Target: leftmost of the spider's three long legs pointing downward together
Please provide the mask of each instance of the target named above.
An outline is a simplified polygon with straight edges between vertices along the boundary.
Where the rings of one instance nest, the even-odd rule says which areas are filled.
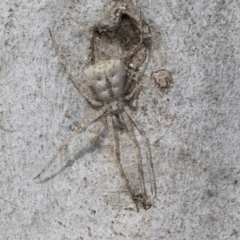
[[[126,175],[124,173],[122,165],[121,165],[121,163],[120,163],[120,161],[118,159],[118,156],[117,156],[116,138],[115,138],[114,128],[113,128],[113,118],[110,115],[107,116],[107,124],[108,124],[109,132],[110,132],[110,135],[111,135],[111,142],[112,142],[112,144],[111,144],[111,151],[113,152],[114,160],[115,160],[115,162],[117,164],[118,170],[120,171],[122,178],[124,179],[124,181],[126,183],[126,187],[128,189],[128,192],[129,192],[133,202],[136,205],[137,211],[139,211],[138,205],[137,205],[137,203],[135,201],[135,198],[134,198],[134,194],[132,192],[132,189],[131,189],[131,187],[129,185],[128,179],[127,179],[127,177],[126,177]]]

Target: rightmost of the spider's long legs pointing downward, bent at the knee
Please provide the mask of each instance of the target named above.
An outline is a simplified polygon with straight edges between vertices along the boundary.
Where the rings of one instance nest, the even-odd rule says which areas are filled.
[[[141,133],[141,135],[144,137],[144,144],[146,148],[146,157],[147,157],[147,162],[148,162],[148,171],[150,173],[150,181],[151,181],[151,192],[153,194],[156,194],[156,181],[155,181],[155,175],[152,167],[152,159],[151,159],[151,154],[150,154],[150,149],[148,145],[148,139],[147,139],[147,134],[141,127],[140,123],[137,121],[136,117],[133,115],[133,112],[130,110],[129,107],[125,107],[125,111],[128,114],[129,118],[132,120],[132,122],[135,124],[136,128],[138,131]]]

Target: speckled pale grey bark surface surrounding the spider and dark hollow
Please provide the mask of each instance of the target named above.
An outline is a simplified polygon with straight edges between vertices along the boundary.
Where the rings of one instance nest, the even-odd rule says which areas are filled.
[[[153,40],[134,108],[156,177],[149,210],[136,212],[104,121],[69,144],[48,181],[33,180],[96,113],[58,63],[48,28],[82,81],[90,29],[116,2],[0,2],[0,239],[239,239],[237,0],[133,1]],[[165,91],[151,78],[162,68],[173,76]],[[119,135],[131,176],[134,145]]]

